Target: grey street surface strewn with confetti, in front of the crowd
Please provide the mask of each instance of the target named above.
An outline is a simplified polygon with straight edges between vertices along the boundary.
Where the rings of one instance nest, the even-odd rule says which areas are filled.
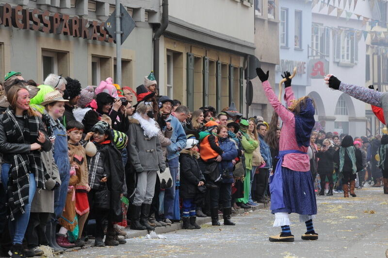
[[[148,257],[373,257],[384,258],[388,249],[388,195],[382,188],[356,190],[357,197],[318,196],[314,228],[318,241],[301,240],[306,226],[291,214],[291,243],[269,242],[280,232],[272,227],[274,216],[260,209],[233,217],[236,226],[202,225],[199,230],[163,234],[167,239],[128,239],[127,244],[92,247],[62,257],[148,258]],[[221,221],[222,222],[222,221]]]

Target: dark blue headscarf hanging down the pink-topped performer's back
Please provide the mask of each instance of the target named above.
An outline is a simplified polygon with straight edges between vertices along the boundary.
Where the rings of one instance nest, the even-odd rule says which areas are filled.
[[[312,100],[307,100],[307,105],[303,106],[300,113],[295,113],[295,136],[298,146],[308,147],[310,145],[310,135],[315,125],[315,109]]]

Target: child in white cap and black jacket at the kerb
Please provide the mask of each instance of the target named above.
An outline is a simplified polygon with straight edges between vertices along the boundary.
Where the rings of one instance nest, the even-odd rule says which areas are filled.
[[[203,176],[197,159],[198,140],[187,139],[186,147],[180,152],[180,187],[179,194],[182,198],[182,220],[184,229],[199,229],[196,224],[195,202],[194,198],[198,187],[205,185],[205,177]]]

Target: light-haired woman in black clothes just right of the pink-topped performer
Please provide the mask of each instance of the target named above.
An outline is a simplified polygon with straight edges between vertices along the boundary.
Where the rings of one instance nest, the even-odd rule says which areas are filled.
[[[333,171],[334,171],[334,163],[333,163],[333,155],[335,149],[334,144],[329,139],[323,140],[323,147],[318,151],[317,157],[318,161],[318,173],[321,177],[321,191],[318,195],[324,195],[324,188],[326,185],[326,176],[329,179],[329,191],[327,195],[333,195]]]

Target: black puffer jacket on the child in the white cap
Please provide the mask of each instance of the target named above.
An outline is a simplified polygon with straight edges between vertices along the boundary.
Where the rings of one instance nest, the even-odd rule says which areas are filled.
[[[182,150],[179,155],[180,186],[179,197],[194,198],[200,181],[206,182],[197,159],[199,153],[190,150]]]

